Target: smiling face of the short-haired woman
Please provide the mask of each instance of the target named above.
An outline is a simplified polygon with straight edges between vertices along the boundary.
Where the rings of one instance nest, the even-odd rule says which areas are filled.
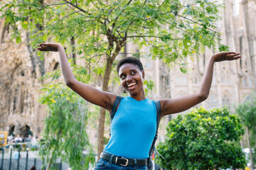
[[[118,75],[122,86],[129,92],[130,96],[138,96],[139,98],[144,96],[144,71],[141,71],[136,64],[122,64]]]

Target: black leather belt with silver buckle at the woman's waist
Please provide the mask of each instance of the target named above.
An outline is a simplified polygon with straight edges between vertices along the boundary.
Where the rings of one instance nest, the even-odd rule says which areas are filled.
[[[100,158],[105,159],[110,162],[111,157],[112,162],[115,164],[119,164],[121,166],[133,166],[134,165],[134,159],[124,158],[124,157],[117,157],[115,155],[105,154],[102,152],[100,154]],[[137,166],[146,166],[147,165],[147,159],[136,159]]]

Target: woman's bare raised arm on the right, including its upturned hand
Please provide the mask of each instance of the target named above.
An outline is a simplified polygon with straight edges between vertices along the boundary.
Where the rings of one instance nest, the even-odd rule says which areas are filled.
[[[213,80],[213,66],[215,62],[225,60],[238,60],[240,53],[236,52],[218,52],[212,55],[208,60],[208,66],[203,76],[201,88],[196,94],[190,94],[178,98],[161,99],[161,117],[172,113],[186,111],[188,108],[196,106],[198,103],[205,101],[210,92],[210,86]]]

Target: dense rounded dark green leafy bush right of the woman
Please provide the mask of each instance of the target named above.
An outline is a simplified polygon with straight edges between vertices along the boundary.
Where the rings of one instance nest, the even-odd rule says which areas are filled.
[[[171,120],[166,130],[165,141],[157,146],[165,159],[156,157],[166,169],[245,167],[245,155],[235,145],[245,130],[227,109],[194,109]]]

